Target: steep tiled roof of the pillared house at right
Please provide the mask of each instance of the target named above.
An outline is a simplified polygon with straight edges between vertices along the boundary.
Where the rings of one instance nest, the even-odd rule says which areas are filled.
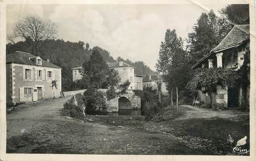
[[[237,47],[248,39],[250,39],[250,25],[234,25],[234,27],[231,29],[231,31],[229,31],[225,38],[223,38],[221,42],[216,47],[214,47],[206,56],[197,61],[197,63],[194,64],[192,68],[196,68],[197,65],[199,65],[208,57],[212,56],[213,53]]]

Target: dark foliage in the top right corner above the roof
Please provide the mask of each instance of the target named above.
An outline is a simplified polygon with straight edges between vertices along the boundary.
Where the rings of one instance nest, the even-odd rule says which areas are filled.
[[[249,4],[231,4],[226,6],[220,12],[234,24],[250,24]]]

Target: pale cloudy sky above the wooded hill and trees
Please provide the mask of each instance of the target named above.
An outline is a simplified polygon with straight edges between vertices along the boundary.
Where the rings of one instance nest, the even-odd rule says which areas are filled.
[[[57,38],[89,43],[152,70],[167,28],[178,36],[188,33],[202,12],[215,12],[227,4],[12,4],[6,8],[7,33],[28,15],[38,15],[57,25]]]

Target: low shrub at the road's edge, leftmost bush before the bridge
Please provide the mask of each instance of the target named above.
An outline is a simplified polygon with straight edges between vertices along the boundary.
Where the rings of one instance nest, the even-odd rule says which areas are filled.
[[[68,117],[73,117],[73,118],[84,118],[85,116],[83,115],[83,100],[85,97],[81,94],[76,94],[76,101],[78,105],[75,105],[75,100],[74,97],[72,99],[68,100],[64,104],[64,109],[62,110],[63,114],[68,116]]]

